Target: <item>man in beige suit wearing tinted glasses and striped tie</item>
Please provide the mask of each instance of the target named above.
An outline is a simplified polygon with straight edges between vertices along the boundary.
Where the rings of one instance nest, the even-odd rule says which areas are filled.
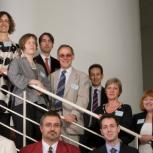
[[[80,107],[87,108],[89,101],[89,79],[86,74],[72,67],[72,61],[74,59],[73,48],[70,45],[63,44],[58,48],[57,55],[61,69],[51,74],[52,92]],[[65,73],[65,83],[62,87],[58,88],[63,72]],[[59,89],[63,89],[60,91],[60,94]],[[65,122],[62,134],[75,141],[79,141],[79,135],[83,134],[84,131],[71,122],[84,125],[83,113],[68,104],[61,102],[60,107],[57,107],[56,104],[57,100],[54,100],[53,107],[64,116]]]

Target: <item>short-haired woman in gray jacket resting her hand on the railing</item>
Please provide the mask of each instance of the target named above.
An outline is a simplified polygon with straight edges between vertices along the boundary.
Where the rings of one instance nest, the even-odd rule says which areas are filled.
[[[20,58],[15,58],[8,70],[8,77],[14,85],[13,93],[23,97],[23,91],[26,91],[28,100],[47,107],[44,95],[39,91],[33,89],[29,85],[36,85],[41,88],[50,90],[50,83],[45,74],[44,68],[36,64],[33,60],[37,49],[37,37],[34,34],[25,34],[19,40],[19,46],[22,51]],[[19,98],[13,97],[12,109],[20,114],[23,114],[23,101]],[[27,103],[27,117],[39,122],[43,111],[35,106]],[[22,118],[12,115],[15,129],[22,132],[23,120]],[[27,121],[27,135],[37,138],[40,132],[38,128]],[[40,134],[41,135],[41,134]],[[30,143],[30,142],[28,142]],[[22,147],[22,137],[17,135],[16,145],[18,148]]]

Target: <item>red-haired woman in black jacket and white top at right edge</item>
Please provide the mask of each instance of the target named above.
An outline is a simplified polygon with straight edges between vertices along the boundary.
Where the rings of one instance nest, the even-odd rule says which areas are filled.
[[[140,101],[141,113],[133,116],[133,130],[141,135],[140,153],[153,153],[153,90],[146,90]]]

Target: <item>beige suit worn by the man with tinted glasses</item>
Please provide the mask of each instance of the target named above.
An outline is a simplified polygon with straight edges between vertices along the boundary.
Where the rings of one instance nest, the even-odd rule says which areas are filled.
[[[56,93],[60,70],[51,74],[51,89]],[[87,108],[88,105],[88,92],[89,92],[89,79],[88,76],[74,68],[65,85],[64,97],[65,99],[73,102],[74,104]],[[74,114],[77,116],[77,123],[83,125],[83,113],[68,104],[63,105],[63,115]],[[83,129],[69,123],[64,123],[63,130],[67,134],[78,135],[83,134]]]

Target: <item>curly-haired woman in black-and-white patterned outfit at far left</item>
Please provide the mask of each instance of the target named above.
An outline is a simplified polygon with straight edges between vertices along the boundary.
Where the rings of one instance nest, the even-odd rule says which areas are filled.
[[[10,39],[10,34],[15,31],[15,23],[12,16],[5,11],[0,11],[0,87],[11,90],[11,84],[7,77],[8,66],[13,58],[19,54],[19,46]],[[0,105],[8,107],[10,95],[0,90]],[[0,122],[9,125],[10,114],[0,107]],[[9,131],[0,125],[0,134],[9,137]]]

